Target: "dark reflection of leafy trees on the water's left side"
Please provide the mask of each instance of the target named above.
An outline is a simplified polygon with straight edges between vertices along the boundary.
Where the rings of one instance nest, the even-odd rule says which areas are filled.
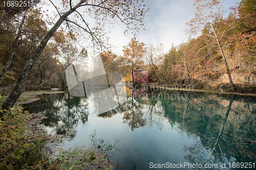
[[[29,106],[30,112],[46,115],[41,126],[48,134],[65,135],[63,140],[70,141],[76,136],[79,123],[88,121],[88,103],[86,98],[71,96],[69,93],[45,94],[44,98]]]

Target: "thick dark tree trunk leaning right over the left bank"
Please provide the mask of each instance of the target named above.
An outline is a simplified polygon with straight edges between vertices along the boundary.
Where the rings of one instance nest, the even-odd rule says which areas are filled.
[[[16,84],[15,88],[13,89],[13,91],[11,92],[11,94],[6,99],[5,103],[3,104],[3,108],[2,109],[6,109],[7,110],[7,109],[13,107],[13,105],[18,100],[19,96],[23,93],[23,91],[25,89],[25,82],[26,82],[26,79],[27,79],[27,77],[29,75],[29,72],[32,69],[32,67],[34,66],[34,64],[36,63],[36,61],[38,60],[41,52],[46,47],[47,42],[53,36],[55,31],[59,28],[61,23],[71,13],[73,13],[82,3],[84,3],[84,1],[81,1],[74,8],[71,8],[69,11],[67,11],[66,13],[61,15],[60,18],[58,19],[58,21],[55,23],[55,25],[51,28],[51,30],[49,30],[47,32],[46,36],[42,39],[42,41],[40,42],[39,46],[36,48],[35,52],[30,56],[29,61],[23,67],[22,71],[20,71],[20,74],[19,74],[19,77],[18,77],[18,80],[17,80],[17,84]],[[1,113],[0,116],[2,116],[2,114],[3,113]]]

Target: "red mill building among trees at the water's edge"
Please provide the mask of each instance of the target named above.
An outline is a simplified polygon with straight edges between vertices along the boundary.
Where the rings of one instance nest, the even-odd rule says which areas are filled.
[[[150,76],[149,73],[152,72],[152,70],[154,70],[154,68],[150,65],[141,65],[138,66],[135,70],[134,70],[134,82],[137,83],[147,83],[150,82]],[[151,75],[152,76],[152,75]]]

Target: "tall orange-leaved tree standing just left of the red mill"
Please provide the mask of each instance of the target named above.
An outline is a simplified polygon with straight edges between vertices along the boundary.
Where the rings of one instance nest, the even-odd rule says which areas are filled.
[[[134,38],[132,38],[131,42],[129,42],[128,45],[123,46],[123,55],[124,57],[127,57],[128,62],[131,66],[131,72],[133,77],[133,83],[134,83],[134,74],[133,71],[135,67],[143,64],[143,55],[144,55],[144,43],[139,41],[136,41]]]

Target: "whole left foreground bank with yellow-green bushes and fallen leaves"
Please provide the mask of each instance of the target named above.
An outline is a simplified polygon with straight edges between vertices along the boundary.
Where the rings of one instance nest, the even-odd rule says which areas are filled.
[[[63,135],[48,135],[39,126],[45,115],[29,113],[20,107],[40,100],[42,94],[63,92],[25,91],[20,96],[22,100],[4,113],[0,119],[1,169],[114,169],[108,155],[98,150],[63,150],[60,146]],[[0,95],[0,111],[4,112],[1,98]]]

